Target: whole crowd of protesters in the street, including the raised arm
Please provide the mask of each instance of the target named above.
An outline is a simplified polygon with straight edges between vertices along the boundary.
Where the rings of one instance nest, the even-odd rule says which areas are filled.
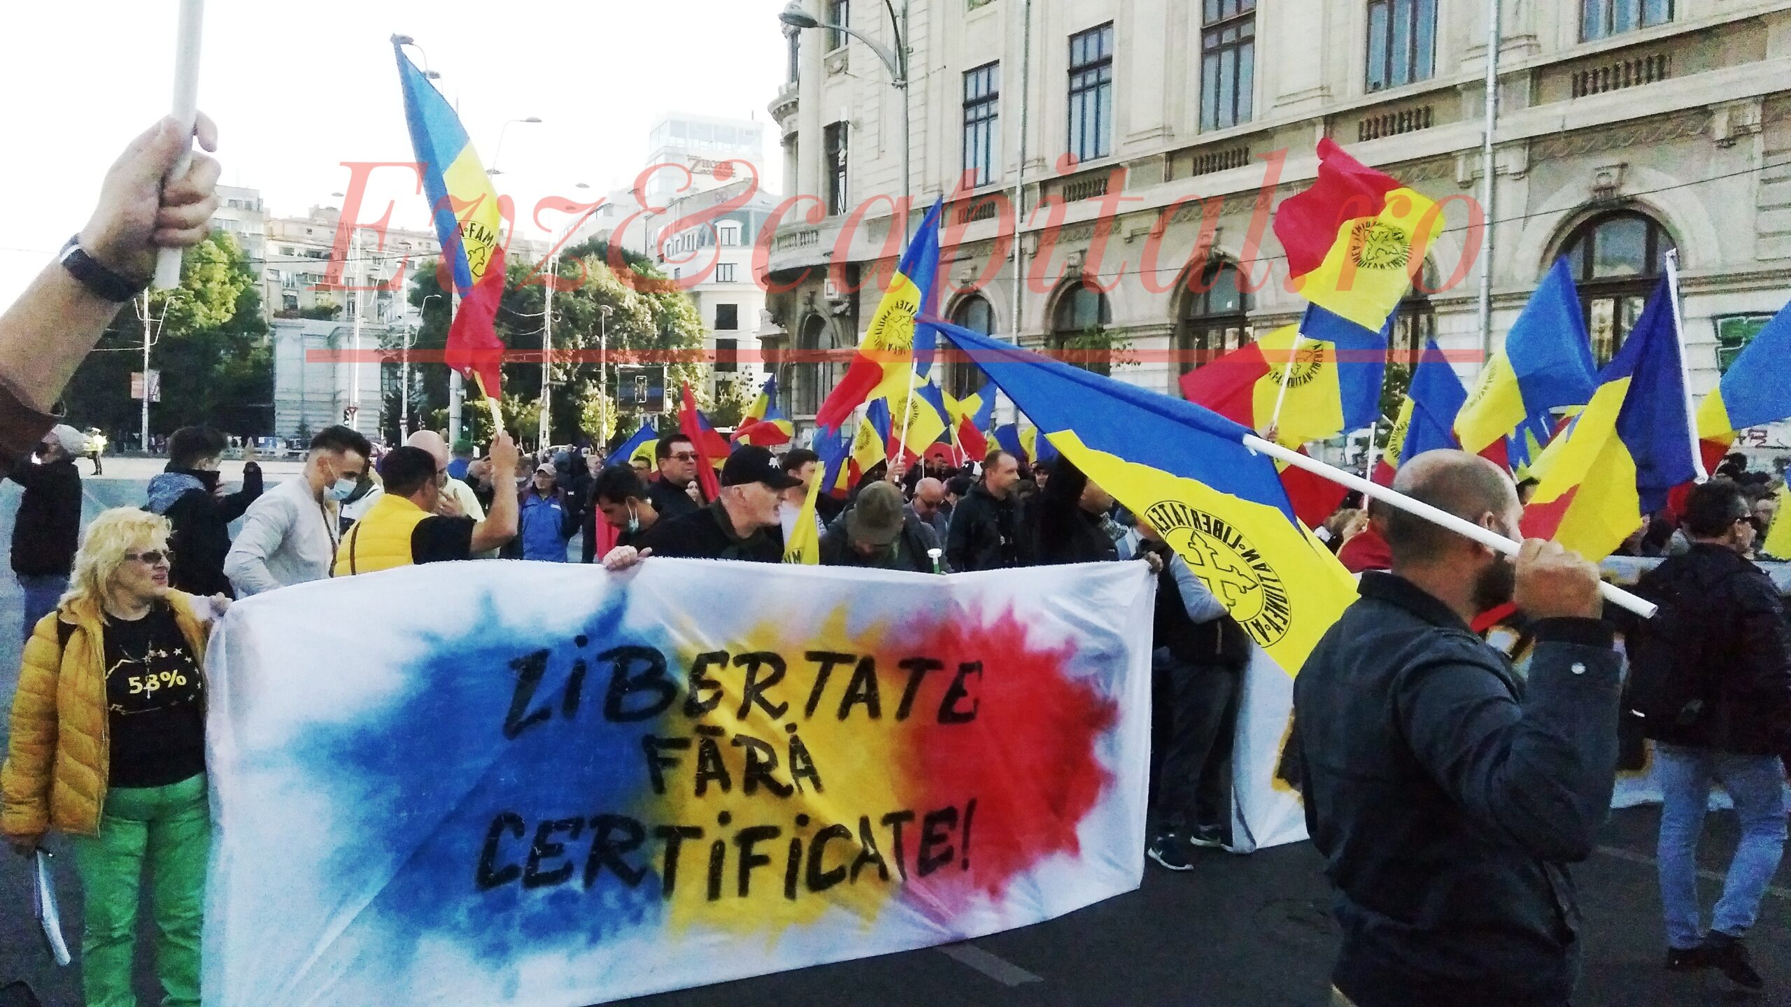
[[[201,116],[202,147],[213,133]],[[801,448],[731,452],[711,498],[682,434],[661,437],[650,464],[605,464],[602,450],[525,457],[501,434],[484,455],[433,432],[381,453],[330,426],[296,478],[267,489],[251,457],[226,493],[226,437],[188,426],[168,437],[141,505],[102,512],[82,536],[75,459],[99,475],[104,443],[50,410],[158,251],[204,238],[219,168],[201,154],[168,177],[186,147],[172,120],[140,136],[88,226],[0,315],[0,464],[23,487],[11,557],[25,636],[0,835],[21,853],[48,831],[70,837],[88,1003],[134,1002],[145,871],[165,1003],[199,1002],[208,622],[236,597],[330,577],[494,555],[566,563],[575,538],[584,563],[609,570],[654,555],[781,563],[799,532],[813,532],[822,564],[912,573],[1144,563],[1157,577],[1146,855],[1187,871],[1196,848],[1230,844],[1230,742],[1254,645],[1157,529],[1064,457],[894,460],[808,511],[824,466]],[[1666,796],[1664,968],[1764,987],[1744,941],[1786,844],[1791,629],[1753,561],[1780,484],[1741,455],[1714,475],[1624,543],[1664,557],[1637,586],[1660,607],[1653,620],[1607,613],[1598,568],[1555,543],[1528,541],[1513,561],[1359,500],[1324,523],[1363,577],[1295,679],[1286,754],[1338,889],[1336,1003],[1569,1002],[1583,951],[1567,867],[1608,813],[1621,711],[1655,742]],[[1395,489],[1515,538],[1528,487],[1483,459],[1429,452]],[[1530,645],[1521,668],[1479,633],[1512,606]],[[1705,926],[1696,846],[1714,783],[1741,844]]]

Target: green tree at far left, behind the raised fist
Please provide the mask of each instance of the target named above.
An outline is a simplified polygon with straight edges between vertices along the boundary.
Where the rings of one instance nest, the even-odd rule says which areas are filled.
[[[115,434],[138,428],[131,373],[143,369],[145,317],[154,337],[149,366],[161,371],[150,434],[195,423],[240,435],[272,432],[274,353],[260,281],[224,231],[186,251],[177,288],[152,290],[118,312],[68,383],[63,405],[73,423]]]

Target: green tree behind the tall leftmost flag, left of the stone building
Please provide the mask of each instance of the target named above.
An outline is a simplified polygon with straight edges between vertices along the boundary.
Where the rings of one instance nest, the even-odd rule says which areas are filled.
[[[598,405],[600,335],[607,333],[609,383],[614,387],[616,364],[638,358],[641,351],[684,351],[666,366],[666,389],[675,394],[679,382],[693,389],[704,387],[709,364],[702,360],[702,319],[697,306],[677,288],[659,267],[639,254],[621,251],[621,271],[611,267],[613,249],[604,242],[586,242],[566,249],[559,258],[561,287],[553,292],[553,349],[571,351],[575,360],[552,364],[553,410],[550,441],[568,443],[580,434],[596,439],[605,428],[613,437],[620,425],[630,419],[607,416]],[[541,349],[546,317],[546,271],[530,262],[510,262],[509,287],[498,306],[498,339],[512,351]],[[423,326],[412,342],[416,349],[442,349],[448,344],[448,297],[441,287],[437,263],[428,262],[410,287],[410,303],[423,308]],[[609,308],[607,315],[604,308]],[[656,355],[652,362],[659,362]],[[412,409],[423,414],[441,410],[446,417],[448,369],[421,366],[421,401]],[[516,362],[503,366],[505,412],[509,400],[539,405],[541,364]],[[519,430],[532,435],[537,414]],[[473,421],[473,403],[462,419]],[[433,423],[433,419],[432,419]],[[484,421],[478,421],[484,423]],[[505,417],[509,423],[509,416]],[[476,426],[484,430],[484,426]],[[514,432],[514,430],[512,430]]]

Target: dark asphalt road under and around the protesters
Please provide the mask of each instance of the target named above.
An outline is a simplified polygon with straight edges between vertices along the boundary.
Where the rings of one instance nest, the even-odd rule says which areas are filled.
[[[107,505],[141,500],[145,475],[88,478],[86,518]],[[82,464],[82,471],[86,466]],[[141,478],[136,478],[141,477]],[[231,473],[226,473],[231,478]],[[0,541],[11,541],[18,491],[0,487]],[[0,699],[11,702],[18,674],[18,586],[0,577]],[[4,726],[0,726],[4,735]],[[1700,1007],[1791,1003],[1791,867],[1780,867],[1761,923],[1748,939],[1768,978],[1768,994],[1725,991],[1714,975],[1669,977],[1660,969],[1660,901],[1655,891],[1657,813],[1615,812],[1599,851],[1574,874],[1585,908],[1585,973],[1580,1007]],[[1705,905],[1735,844],[1734,815],[1710,815],[1705,839]],[[64,844],[52,839],[50,848]],[[1336,951],[1331,894],[1311,844],[1252,856],[1209,853],[1196,869],[1168,874],[1152,867],[1143,889],[1062,919],[996,934],[967,944],[818,966],[752,980],[629,1000],[634,1007],[1316,1007],[1325,1003]],[[64,926],[79,935],[79,882],[59,858]],[[48,1005],[75,1005],[79,973],[56,969],[29,910],[27,860],[0,856],[0,985],[25,978]],[[147,934],[147,928],[143,930]],[[138,993],[159,1002],[150,941],[141,942]],[[403,1003],[394,996],[390,1003]],[[364,1005],[342,1005],[364,1007]],[[373,1005],[365,1005],[373,1007]]]

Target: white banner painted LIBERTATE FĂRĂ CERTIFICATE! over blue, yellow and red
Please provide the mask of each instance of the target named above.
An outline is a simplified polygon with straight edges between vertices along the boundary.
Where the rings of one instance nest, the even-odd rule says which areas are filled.
[[[236,602],[204,1003],[573,1007],[1135,889],[1153,590],[484,561]]]

